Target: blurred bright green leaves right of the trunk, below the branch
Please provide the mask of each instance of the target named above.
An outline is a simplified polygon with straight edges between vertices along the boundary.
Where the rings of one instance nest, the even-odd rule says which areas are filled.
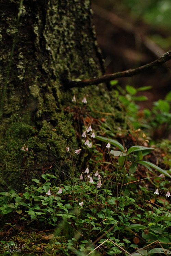
[[[139,111],[139,106],[136,104],[137,101],[147,100],[145,96],[136,96],[137,92],[148,90],[151,86],[143,86],[138,89],[127,85],[126,89],[123,90],[120,86],[117,86],[119,100],[122,102],[125,111],[127,112],[130,125],[134,129],[143,128],[145,133],[152,135],[156,130],[163,130],[164,136],[167,137],[171,129],[171,92],[169,92],[165,100],[159,99],[154,102],[154,107],[150,109],[143,109]],[[119,95],[119,91],[122,95]]]

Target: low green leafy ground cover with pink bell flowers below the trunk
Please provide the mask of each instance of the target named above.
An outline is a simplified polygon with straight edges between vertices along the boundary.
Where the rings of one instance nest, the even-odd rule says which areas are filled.
[[[110,135],[113,136],[112,132]],[[88,133],[87,137],[90,139]],[[45,228],[53,227],[55,229],[53,234],[46,236],[51,241],[44,248],[47,252],[54,249],[54,252],[62,255],[73,253],[84,255],[89,252],[96,255],[96,247],[91,242],[96,240],[95,244],[100,245],[100,252],[105,250],[107,255],[121,255],[123,249],[134,255],[164,253],[168,249],[167,244],[170,243],[168,234],[171,235],[169,233],[171,203],[162,200],[162,208],[157,204],[153,208],[150,198],[154,198],[154,195],[152,196],[145,186],[134,186],[134,182],[138,164],[148,166],[150,171],[154,168],[169,178],[171,176],[167,171],[144,160],[154,148],[135,145],[124,150],[123,146],[114,139],[103,136],[96,136],[95,139],[102,143],[99,144],[99,147],[103,148],[101,152],[97,150],[97,146],[86,147],[84,140],[81,146],[81,151],[85,150],[84,156],[86,151],[91,153],[89,168],[92,170],[90,176],[93,182],[90,182],[89,174],[83,172],[83,179],[80,180],[73,175],[73,180],[71,179],[67,185],[55,186],[57,179],[55,175],[42,174],[44,183],[32,179],[32,185],[29,187],[25,185],[26,192],[22,195],[15,191],[0,193],[1,220],[3,221],[6,215],[11,215],[13,212],[15,216],[20,216],[20,221],[24,225],[31,227],[36,223],[39,225],[42,223]],[[108,150],[106,148],[108,142],[112,148],[110,157],[109,154],[104,157],[103,151]],[[69,154],[73,158],[75,153]],[[106,163],[111,170],[106,169],[104,173],[99,168]],[[155,172],[152,172],[155,175]],[[97,174],[100,177],[97,178]],[[145,179],[152,178],[155,177],[148,176]],[[135,247],[138,248],[139,245],[134,244],[135,233],[142,236],[147,243],[146,248],[137,252]],[[63,235],[65,242],[59,240]],[[151,248],[149,242],[151,240],[159,241],[155,248]],[[160,243],[163,241],[166,246],[162,245],[161,248]],[[140,247],[143,247],[142,243]]]

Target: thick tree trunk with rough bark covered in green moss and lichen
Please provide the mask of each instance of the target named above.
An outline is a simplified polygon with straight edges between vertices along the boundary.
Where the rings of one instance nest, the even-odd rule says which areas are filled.
[[[126,127],[114,93],[104,84],[67,90],[64,83],[104,73],[90,1],[6,0],[0,17],[0,191],[22,191],[26,184],[23,144],[28,145],[29,181],[50,172],[57,183],[64,182],[67,176],[53,162],[58,167],[64,162],[62,170],[71,173],[65,148],[76,150],[82,125],[95,128],[94,118],[104,117],[94,110],[114,113],[105,117],[108,122]],[[71,102],[74,94],[78,106]],[[84,96],[87,105],[81,103]]]

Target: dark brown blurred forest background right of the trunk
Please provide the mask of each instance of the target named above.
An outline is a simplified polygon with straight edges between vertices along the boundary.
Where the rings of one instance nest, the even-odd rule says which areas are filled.
[[[170,0],[92,0],[93,22],[106,73],[136,68],[160,58],[171,50]],[[171,61],[167,62],[171,69]],[[152,107],[152,102],[164,99],[171,90],[171,73],[166,64],[130,78],[120,78],[119,85],[127,84],[152,89],[139,92],[148,101],[141,108]]]

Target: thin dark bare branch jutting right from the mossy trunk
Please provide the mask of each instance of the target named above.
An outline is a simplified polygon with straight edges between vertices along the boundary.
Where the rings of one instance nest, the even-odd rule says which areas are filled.
[[[64,86],[66,89],[73,88],[73,87],[85,87],[87,85],[95,85],[95,84],[100,84],[100,83],[105,83],[111,80],[114,80],[119,77],[129,77],[129,76],[134,76],[137,74],[141,74],[145,71],[149,71],[152,69],[156,69],[158,66],[162,65],[166,61],[171,59],[171,51],[166,52],[161,56],[161,58],[148,63],[146,65],[140,66],[139,68],[136,69],[128,69],[122,72],[117,72],[114,74],[109,74],[109,75],[103,75],[101,77],[97,78],[92,78],[92,79],[87,79],[87,80],[65,80],[63,81]]]

